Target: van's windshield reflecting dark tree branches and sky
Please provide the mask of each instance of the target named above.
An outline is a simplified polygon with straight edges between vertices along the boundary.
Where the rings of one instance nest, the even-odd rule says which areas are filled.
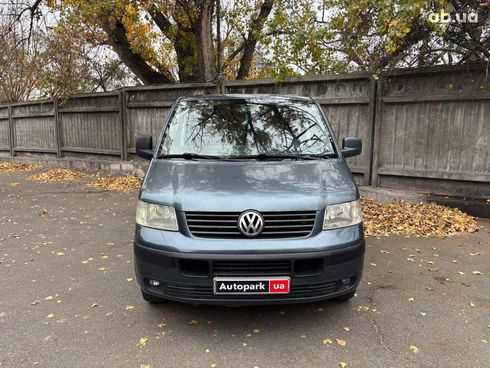
[[[327,125],[310,101],[181,101],[164,134],[160,155],[210,156],[335,154]]]

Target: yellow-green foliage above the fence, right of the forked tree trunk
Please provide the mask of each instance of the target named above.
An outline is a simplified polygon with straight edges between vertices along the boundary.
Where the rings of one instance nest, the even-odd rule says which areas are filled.
[[[441,11],[454,21],[429,20]],[[279,78],[488,60],[488,11],[478,0],[284,0],[262,41]],[[471,12],[478,23],[455,21]]]

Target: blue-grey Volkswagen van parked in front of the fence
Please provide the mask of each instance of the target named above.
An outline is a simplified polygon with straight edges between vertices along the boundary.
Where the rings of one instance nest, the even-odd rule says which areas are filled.
[[[302,303],[354,296],[365,250],[359,192],[311,98],[179,98],[139,193],[135,269],[143,298],[197,304]]]

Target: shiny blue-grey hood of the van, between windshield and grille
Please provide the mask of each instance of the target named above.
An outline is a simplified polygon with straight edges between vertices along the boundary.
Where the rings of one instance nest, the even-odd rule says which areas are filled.
[[[154,159],[140,191],[140,199],[177,211],[312,211],[357,198],[357,187],[342,159]]]

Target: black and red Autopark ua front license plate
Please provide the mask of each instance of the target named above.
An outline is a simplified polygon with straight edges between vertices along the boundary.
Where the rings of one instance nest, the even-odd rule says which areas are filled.
[[[289,277],[215,277],[214,294],[289,294]]]

